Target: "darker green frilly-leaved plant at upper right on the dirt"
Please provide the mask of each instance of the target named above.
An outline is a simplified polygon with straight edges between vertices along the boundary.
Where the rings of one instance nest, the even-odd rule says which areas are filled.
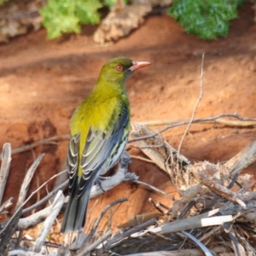
[[[229,21],[237,17],[236,8],[243,0],[175,0],[169,14],[186,32],[202,39],[226,36]]]

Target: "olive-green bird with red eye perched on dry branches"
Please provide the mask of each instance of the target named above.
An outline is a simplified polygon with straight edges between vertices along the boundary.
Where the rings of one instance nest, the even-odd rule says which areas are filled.
[[[61,233],[84,227],[91,187],[123,154],[130,131],[125,81],[148,65],[150,62],[125,57],[108,61],[94,90],[73,113],[67,154],[70,198]]]

